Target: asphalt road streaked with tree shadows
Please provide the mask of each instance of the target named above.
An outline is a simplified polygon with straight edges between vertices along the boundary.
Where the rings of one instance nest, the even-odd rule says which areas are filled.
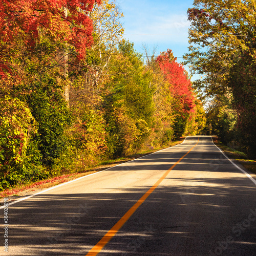
[[[0,255],[96,255],[102,238],[99,256],[256,255],[256,178],[246,172],[210,136],[189,136],[9,205]]]

